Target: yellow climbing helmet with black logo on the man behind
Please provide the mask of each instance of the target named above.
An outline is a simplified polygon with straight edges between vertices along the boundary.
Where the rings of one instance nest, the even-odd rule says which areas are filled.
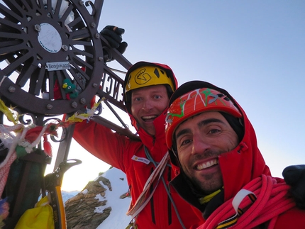
[[[172,88],[172,91],[174,91],[172,79],[167,76],[165,70],[155,66],[140,67],[129,74],[128,83],[126,84],[126,92],[144,86],[160,84],[168,84]]]

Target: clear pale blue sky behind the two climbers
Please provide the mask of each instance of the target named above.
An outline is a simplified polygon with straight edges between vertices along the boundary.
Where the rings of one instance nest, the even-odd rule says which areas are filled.
[[[226,89],[253,123],[272,175],[305,164],[305,1],[105,0],[99,30],[107,25],[125,28],[130,62],[160,62],[179,84]],[[75,142],[69,157],[83,164],[65,174],[65,190],[109,168]]]

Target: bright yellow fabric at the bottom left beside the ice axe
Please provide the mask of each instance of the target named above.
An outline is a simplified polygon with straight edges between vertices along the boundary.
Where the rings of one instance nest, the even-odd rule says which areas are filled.
[[[48,204],[48,196],[43,197],[36,203],[35,208],[28,209],[21,218],[15,229],[54,229],[53,210]]]

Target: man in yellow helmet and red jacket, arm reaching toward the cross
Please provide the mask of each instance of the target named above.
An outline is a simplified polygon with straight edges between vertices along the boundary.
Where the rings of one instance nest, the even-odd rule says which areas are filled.
[[[165,116],[177,79],[167,65],[138,62],[126,74],[124,102],[140,141],[113,133],[94,121],[77,123],[73,138],[104,162],[126,173],[131,191],[128,214],[138,229],[177,229],[201,225],[200,211],[168,184],[174,177],[165,144]],[[195,226],[194,226],[195,227]]]

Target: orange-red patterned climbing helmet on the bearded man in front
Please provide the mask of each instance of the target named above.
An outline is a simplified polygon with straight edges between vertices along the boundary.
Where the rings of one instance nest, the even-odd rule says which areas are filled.
[[[166,143],[172,148],[174,130],[188,118],[204,111],[222,111],[241,118],[242,114],[228,98],[227,94],[218,91],[213,84],[201,81],[192,81],[179,86],[174,91],[166,117]]]

